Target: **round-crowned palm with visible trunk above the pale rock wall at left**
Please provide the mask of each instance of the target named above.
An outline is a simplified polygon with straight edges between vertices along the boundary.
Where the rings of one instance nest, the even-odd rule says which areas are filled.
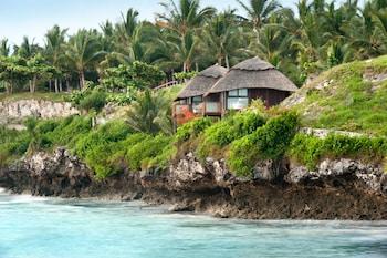
[[[70,39],[65,55],[79,74],[81,89],[85,85],[85,71],[103,54],[105,52],[102,51],[101,43],[92,31],[80,30]]]

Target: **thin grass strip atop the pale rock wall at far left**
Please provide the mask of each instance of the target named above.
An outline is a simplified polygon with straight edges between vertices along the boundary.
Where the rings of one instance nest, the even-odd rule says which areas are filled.
[[[13,94],[0,93],[0,102],[12,102],[22,100],[41,100],[52,102],[63,102],[64,96],[69,93],[53,93],[53,92],[18,92]]]

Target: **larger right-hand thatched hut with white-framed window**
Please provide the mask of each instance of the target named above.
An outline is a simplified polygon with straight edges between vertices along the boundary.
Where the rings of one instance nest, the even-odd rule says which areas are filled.
[[[229,110],[242,110],[252,100],[262,100],[268,107],[281,103],[297,87],[272,64],[253,58],[245,60],[230,71],[205,94],[205,106],[219,103],[217,114],[203,110],[203,115],[222,116]]]

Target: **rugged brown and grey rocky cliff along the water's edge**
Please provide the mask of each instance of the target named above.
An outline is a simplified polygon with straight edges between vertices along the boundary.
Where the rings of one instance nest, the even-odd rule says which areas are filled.
[[[143,199],[174,211],[253,219],[387,219],[387,176],[378,165],[323,161],[318,169],[262,162],[255,179],[231,175],[224,161],[192,154],[168,169],[125,172],[104,180],[67,151],[39,153],[0,171],[0,186],[40,196]]]

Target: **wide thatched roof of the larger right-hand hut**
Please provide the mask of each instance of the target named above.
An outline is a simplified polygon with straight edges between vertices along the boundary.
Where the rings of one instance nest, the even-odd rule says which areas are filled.
[[[294,92],[297,87],[272,64],[253,58],[233,66],[207,94],[237,89],[273,89]]]

